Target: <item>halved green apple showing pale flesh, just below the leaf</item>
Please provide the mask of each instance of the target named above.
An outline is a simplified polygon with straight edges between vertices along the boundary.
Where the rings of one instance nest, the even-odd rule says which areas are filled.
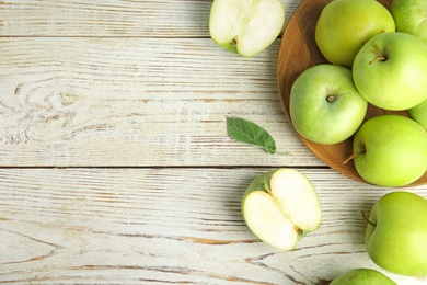
[[[292,250],[322,220],[318,194],[305,175],[277,169],[257,176],[242,198],[242,215],[251,231],[264,242]]]

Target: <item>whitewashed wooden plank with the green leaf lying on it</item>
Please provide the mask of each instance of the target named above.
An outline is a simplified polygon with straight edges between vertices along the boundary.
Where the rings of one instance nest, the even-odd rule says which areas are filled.
[[[242,58],[210,38],[1,38],[0,164],[323,166],[285,116],[278,45]],[[227,116],[282,153],[230,139]]]

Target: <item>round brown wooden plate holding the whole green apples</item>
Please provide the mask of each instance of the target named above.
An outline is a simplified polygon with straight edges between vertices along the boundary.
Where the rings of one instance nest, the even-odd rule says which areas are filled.
[[[279,47],[277,78],[281,102],[289,122],[291,122],[289,95],[292,83],[307,68],[327,62],[314,41],[314,29],[323,7],[328,2],[331,0],[302,0],[285,29]],[[390,9],[392,0],[380,0],[380,2]],[[407,116],[406,112],[391,112],[370,105],[366,118],[380,114],[400,114]],[[357,173],[353,160],[345,164],[343,163],[351,156],[353,137],[336,145],[320,145],[303,138],[297,130],[296,134],[328,167],[351,179],[368,183]],[[409,186],[426,184],[427,173]]]

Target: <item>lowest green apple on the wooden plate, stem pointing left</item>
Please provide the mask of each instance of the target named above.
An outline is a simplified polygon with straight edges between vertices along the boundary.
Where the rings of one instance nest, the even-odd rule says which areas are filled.
[[[363,122],[353,140],[356,171],[380,186],[405,186],[427,170],[427,133],[401,115],[379,115]]]

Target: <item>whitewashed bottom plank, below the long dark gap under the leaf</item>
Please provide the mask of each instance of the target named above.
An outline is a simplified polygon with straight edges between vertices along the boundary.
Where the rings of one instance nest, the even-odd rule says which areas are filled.
[[[267,170],[0,169],[0,282],[315,284],[378,269],[365,251],[361,210],[391,189],[301,169],[323,223],[280,252],[240,214],[245,187]],[[407,191],[427,197],[427,187]]]

